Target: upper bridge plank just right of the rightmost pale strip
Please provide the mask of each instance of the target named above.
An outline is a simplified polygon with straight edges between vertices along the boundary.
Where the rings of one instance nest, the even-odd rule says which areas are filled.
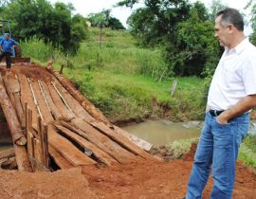
[[[83,109],[82,105],[64,89],[63,85],[59,81],[55,81],[55,84],[77,117],[86,118],[87,120],[95,120]]]

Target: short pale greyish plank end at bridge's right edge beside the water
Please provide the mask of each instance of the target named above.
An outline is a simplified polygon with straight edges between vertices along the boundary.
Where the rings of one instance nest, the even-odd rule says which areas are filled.
[[[129,134],[128,132],[124,131],[123,129],[115,125],[114,125],[114,132],[121,136],[126,136],[130,141],[135,143],[138,147],[145,150],[146,152],[149,152],[153,146],[151,143],[145,141],[144,139],[141,139],[137,136]]]

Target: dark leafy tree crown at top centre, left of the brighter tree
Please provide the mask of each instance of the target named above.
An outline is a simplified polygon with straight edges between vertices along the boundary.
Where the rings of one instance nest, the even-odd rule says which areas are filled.
[[[189,17],[188,0],[145,0],[145,7],[137,9],[128,19],[132,34],[140,45],[157,45],[174,40],[177,24]]]

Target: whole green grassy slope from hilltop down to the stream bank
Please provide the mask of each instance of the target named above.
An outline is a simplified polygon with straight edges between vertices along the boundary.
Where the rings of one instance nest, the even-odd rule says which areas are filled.
[[[33,39],[22,43],[25,56],[36,62],[54,60],[64,75],[75,81],[82,93],[112,121],[147,117],[172,120],[197,119],[203,113],[203,81],[178,79],[174,97],[170,88],[174,78],[162,79],[167,67],[160,49],[139,48],[128,31],[92,28],[73,57]],[[161,79],[161,81],[159,81]]]

